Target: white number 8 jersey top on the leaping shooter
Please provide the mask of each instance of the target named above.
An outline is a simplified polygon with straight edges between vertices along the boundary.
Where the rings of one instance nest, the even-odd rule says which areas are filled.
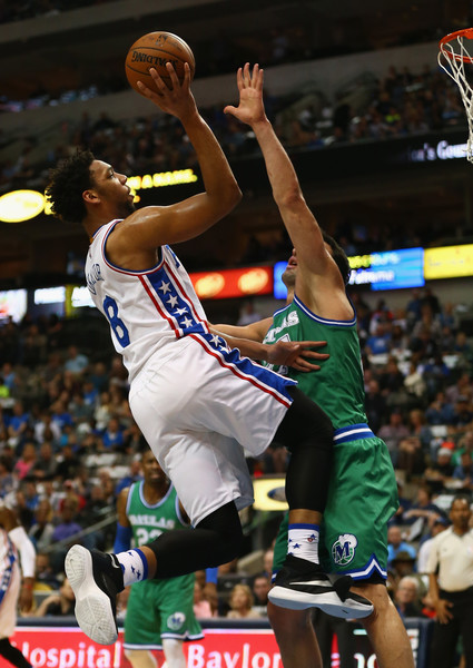
[[[122,269],[107,259],[111,220],[93,235],[86,262],[87,285],[110,324],[115,348],[124,356],[130,382],[160,350],[188,334],[209,334],[206,314],[189,275],[169,246],[144,272]]]

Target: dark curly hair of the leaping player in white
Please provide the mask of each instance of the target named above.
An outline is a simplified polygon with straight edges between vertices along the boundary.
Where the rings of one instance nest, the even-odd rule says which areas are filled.
[[[90,165],[93,160],[90,150],[77,150],[50,171],[46,197],[51,203],[52,214],[63,223],[82,223],[87,216],[82,193],[92,186]]]

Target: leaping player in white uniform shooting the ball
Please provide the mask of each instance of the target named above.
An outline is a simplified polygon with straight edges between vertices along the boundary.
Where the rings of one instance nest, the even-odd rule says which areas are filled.
[[[292,452],[286,495],[293,538],[304,556],[287,573],[284,602],[364,617],[372,611],[369,601],[349,592],[346,581],[332,586],[318,563],[331,421],[294,381],[242,358],[211,333],[189,276],[168,246],[198,236],[226,216],[240,191],[198,112],[188,67],[183,84],[173,66],[167,67],[170,89],[151,69],[158,92],[145,86],[141,90],[181,121],[205,191],[171,206],[134,212],[126,176],[83,151],[53,171],[48,197],[53,214],[81,223],[90,238],[87,283],[128,369],[134,418],[195,529],[162,534],[117,556],[71,548],[66,572],[76,595],[76,617],[90,638],[111,644],[117,638],[116,593],[124,586],[215,567],[238,556],[238,510],[253,502],[244,448],[259,456],[275,436]],[[285,357],[299,351],[297,344],[289,346]]]

